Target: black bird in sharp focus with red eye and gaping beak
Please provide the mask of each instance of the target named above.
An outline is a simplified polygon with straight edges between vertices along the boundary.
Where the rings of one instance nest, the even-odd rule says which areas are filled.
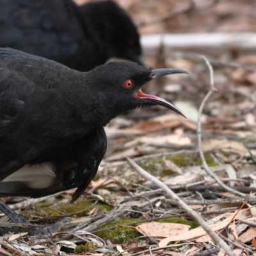
[[[141,86],[187,73],[109,62],[89,72],[10,48],[0,48],[0,196],[51,195],[77,188],[74,202],[97,173],[106,151],[103,126],[124,111],[170,102]],[[9,209],[0,209],[13,221]]]

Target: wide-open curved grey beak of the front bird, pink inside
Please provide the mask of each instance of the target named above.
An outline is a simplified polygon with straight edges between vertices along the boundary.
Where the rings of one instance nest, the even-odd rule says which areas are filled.
[[[159,68],[159,69],[153,69],[151,71],[150,78],[155,79],[157,77],[166,76],[170,74],[189,74],[189,72],[179,68]],[[145,104],[163,106],[165,108],[175,111],[179,115],[182,115],[186,118],[186,116],[180,111],[180,109],[176,108],[172,103],[168,102],[167,100],[161,99],[160,97],[150,95],[150,94],[145,94],[141,91],[141,88],[138,90],[138,92],[135,93],[135,95],[139,99],[143,99],[143,102],[145,102]]]

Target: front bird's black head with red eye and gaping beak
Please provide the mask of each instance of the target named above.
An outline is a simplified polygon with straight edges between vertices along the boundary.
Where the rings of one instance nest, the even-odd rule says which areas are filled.
[[[92,97],[97,108],[109,122],[112,118],[136,108],[163,106],[182,115],[182,112],[167,100],[145,94],[143,85],[160,76],[169,74],[189,74],[178,68],[150,69],[136,63],[113,61],[85,73],[86,81],[92,81]],[[97,86],[97,90],[96,87]]]

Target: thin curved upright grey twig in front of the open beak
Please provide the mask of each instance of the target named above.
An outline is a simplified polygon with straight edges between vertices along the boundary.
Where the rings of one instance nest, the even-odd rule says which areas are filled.
[[[209,68],[210,71],[210,85],[211,85],[211,90],[209,90],[209,92],[207,93],[207,95],[204,97],[204,100],[202,101],[200,108],[198,110],[198,121],[197,121],[197,137],[198,137],[198,151],[199,151],[199,155],[202,161],[202,164],[204,166],[204,170],[205,172],[207,172],[207,174],[214,179],[222,188],[224,188],[226,191],[233,193],[234,195],[237,196],[246,196],[244,193],[241,193],[235,189],[232,189],[230,187],[228,187],[227,185],[225,185],[223,182],[221,182],[221,180],[214,174],[211,172],[210,168],[208,167],[205,158],[204,158],[204,153],[202,150],[202,140],[201,140],[201,117],[202,117],[202,111],[204,109],[204,105],[205,102],[209,99],[209,97],[212,95],[212,93],[214,91],[216,91],[216,88],[214,87],[214,79],[213,79],[213,69],[211,64],[209,63],[209,61],[207,60],[207,58],[205,58],[205,56],[201,56],[202,59],[205,61],[205,64],[207,65],[207,67]]]

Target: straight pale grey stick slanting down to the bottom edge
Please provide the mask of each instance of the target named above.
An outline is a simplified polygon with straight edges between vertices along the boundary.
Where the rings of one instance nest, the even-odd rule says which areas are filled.
[[[193,216],[193,218],[202,226],[202,228],[204,228],[204,230],[207,232],[207,234],[209,234],[209,236],[211,236],[212,239],[217,244],[219,244],[221,246],[221,248],[223,248],[223,250],[225,250],[227,255],[234,256],[234,253],[232,252],[230,247],[212,230],[212,228],[209,227],[209,225],[204,221],[204,219],[197,212],[193,211],[193,209],[191,209],[191,207],[186,205],[179,198],[179,196],[177,196],[170,188],[168,188],[168,186],[166,186],[166,184],[164,184],[163,182],[158,180],[156,177],[152,176],[150,173],[143,170],[143,168],[141,168],[138,164],[136,164],[134,161],[132,161],[132,159],[130,159],[129,157],[127,157],[127,162],[129,163],[131,168],[136,170],[138,173],[140,173],[140,175],[142,175],[146,179],[151,180],[152,182],[156,183],[157,186],[159,186],[159,188],[162,188],[169,196],[171,196],[171,198],[173,200],[175,200],[175,202],[177,202],[177,205],[179,205],[179,207],[181,207],[186,212],[188,212],[188,214]]]

